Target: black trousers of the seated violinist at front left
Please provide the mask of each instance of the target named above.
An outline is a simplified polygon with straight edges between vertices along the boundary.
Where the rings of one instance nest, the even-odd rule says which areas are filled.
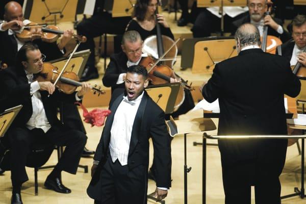
[[[69,173],[77,173],[80,158],[86,144],[87,137],[76,130],[57,130],[53,128],[44,133],[41,129],[29,130],[27,127],[12,129],[7,135],[11,156],[11,180],[12,184],[22,184],[29,180],[25,171],[27,157],[31,146],[36,142],[57,144],[66,146],[60,161],[57,164],[59,170]]]

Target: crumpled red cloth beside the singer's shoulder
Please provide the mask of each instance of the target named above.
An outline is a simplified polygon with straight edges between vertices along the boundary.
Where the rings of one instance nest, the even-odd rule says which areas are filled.
[[[74,104],[77,104],[81,106],[83,109],[83,117],[84,121],[87,123],[90,123],[91,126],[102,126],[104,125],[105,118],[111,114],[110,110],[101,110],[101,109],[93,109],[92,111],[88,112],[88,110],[79,102],[75,102]]]

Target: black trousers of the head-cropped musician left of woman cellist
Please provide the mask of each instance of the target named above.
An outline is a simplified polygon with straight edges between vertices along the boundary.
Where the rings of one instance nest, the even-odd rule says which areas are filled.
[[[87,41],[81,43],[79,50],[90,49],[91,52],[86,64],[89,67],[89,71],[95,70],[93,38],[105,33],[122,35],[130,20],[130,16],[113,18],[112,14],[104,11],[95,13],[92,17],[82,20],[77,25],[78,34],[87,37]],[[120,42],[117,42],[117,44],[118,43],[120,47]],[[116,47],[118,47],[117,44],[115,45]]]

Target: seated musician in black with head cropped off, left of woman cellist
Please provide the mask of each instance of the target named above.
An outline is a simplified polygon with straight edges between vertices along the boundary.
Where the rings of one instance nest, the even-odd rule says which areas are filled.
[[[112,11],[105,10],[105,4],[110,2],[112,1],[96,0],[93,15],[90,18],[84,18],[77,25],[78,34],[87,37],[87,41],[80,45],[79,50],[90,49],[91,52],[81,81],[88,81],[99,77],[97,68],[95,67],[95,45],[93,38],[106,33],[122,35],[127,23],[131,20],[130,16],[113,18]]]

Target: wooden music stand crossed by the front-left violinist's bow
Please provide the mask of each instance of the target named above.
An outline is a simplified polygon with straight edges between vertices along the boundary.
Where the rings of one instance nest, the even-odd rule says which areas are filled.
[[[70,62],[68,63],[66,67],[66,71],[73,71],[79,76],[79,78],[81,78],[86,62],[89,58],[89,55],[90,55],[89,49],[82,50],[80,52],[76,52],[72,56]],[[53,64],[54,66],[58,67],[59,71],[61,71],[64,65],[66,64],[66,62],[68,61],[68,58],[69,56],[58,58],[58,59],[55,59],[49,62]]]

